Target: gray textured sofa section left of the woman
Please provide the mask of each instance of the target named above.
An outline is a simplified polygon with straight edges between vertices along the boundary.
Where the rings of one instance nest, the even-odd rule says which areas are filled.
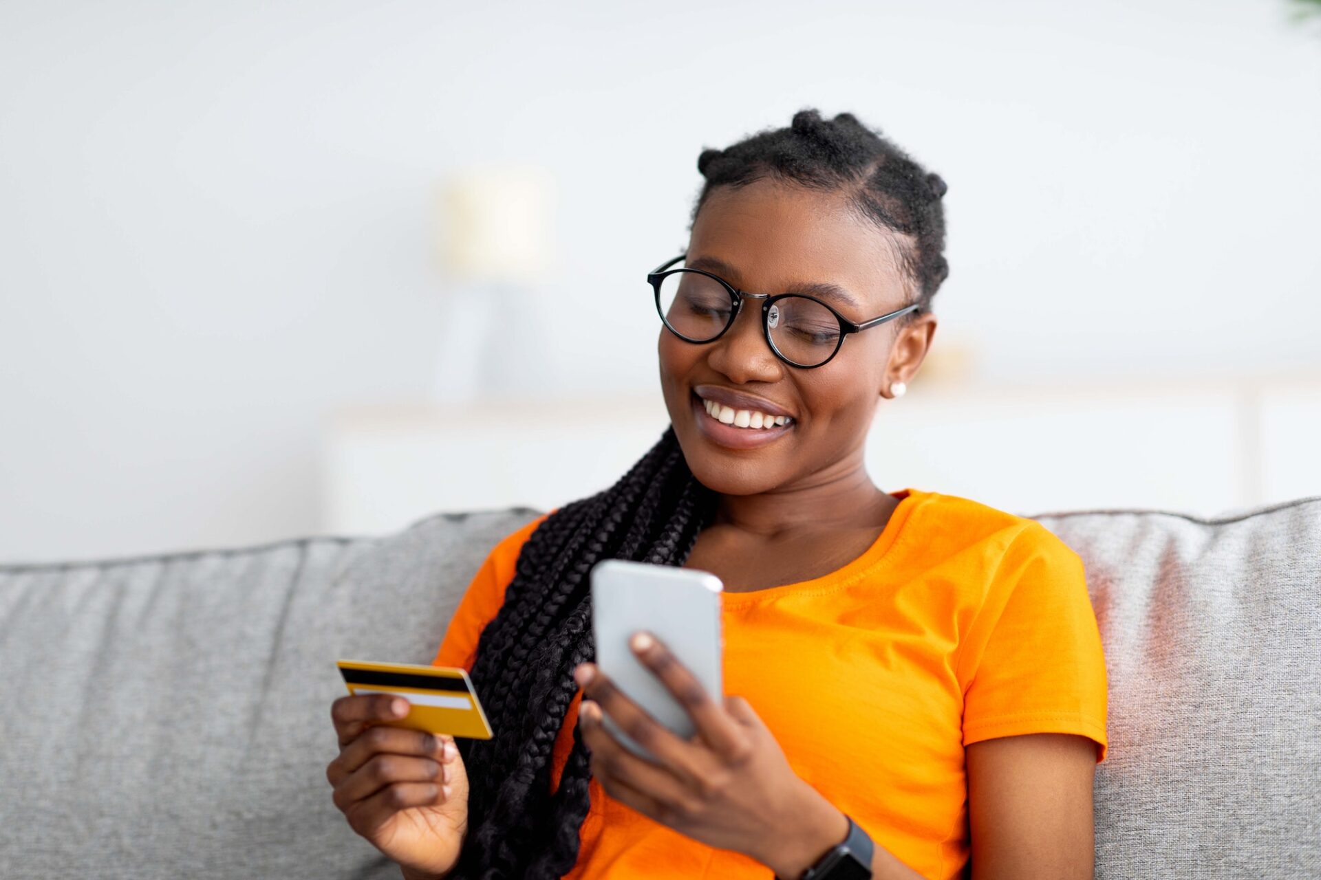
[[[0,566],[0,877],[391,877],[330,801],[338,658],[431,662],[531,511]]]

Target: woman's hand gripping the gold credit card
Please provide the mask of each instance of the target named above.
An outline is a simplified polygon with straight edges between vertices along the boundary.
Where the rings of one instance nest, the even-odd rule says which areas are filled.
[[[330,706],[339,755],[326,767],[349,826],[406,869],[441,876],[458,863],[468,829],[468,773],[454,738],[384,727],[391,694],[341,697]]]

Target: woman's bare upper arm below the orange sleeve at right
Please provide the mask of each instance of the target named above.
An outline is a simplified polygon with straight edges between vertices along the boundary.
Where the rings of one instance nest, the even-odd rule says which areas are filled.
[[[972,880],[1091,880],[1096,743],[1025,734],[964,748]]]

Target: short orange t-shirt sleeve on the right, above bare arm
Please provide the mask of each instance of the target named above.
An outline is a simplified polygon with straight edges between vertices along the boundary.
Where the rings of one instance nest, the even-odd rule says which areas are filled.
[[[1106,657],[1083,562],[1045,526],[1032,522],[1005,550],[959,666],[964,745],[1078,734],[1106,760]]]

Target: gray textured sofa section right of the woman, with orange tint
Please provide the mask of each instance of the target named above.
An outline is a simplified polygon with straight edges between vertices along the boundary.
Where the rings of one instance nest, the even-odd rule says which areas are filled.
[[[1321,497],[1036,519],[1106,652],[1096,877],[1321,876]]]

